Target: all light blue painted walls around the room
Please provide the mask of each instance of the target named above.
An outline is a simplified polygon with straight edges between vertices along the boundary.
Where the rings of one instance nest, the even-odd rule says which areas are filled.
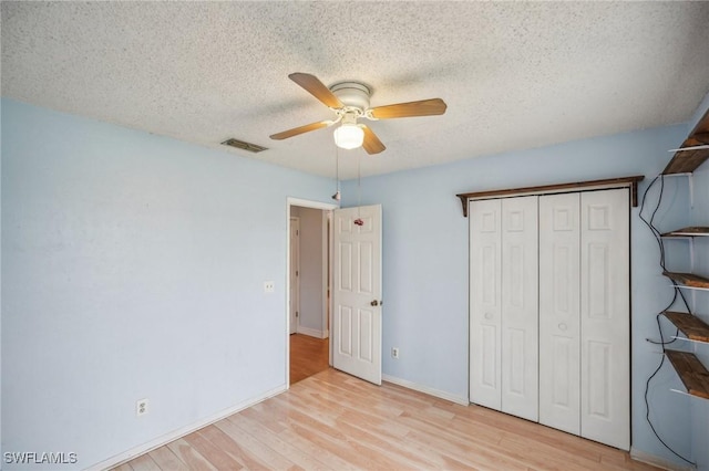
[[[332,181],[9,101],[1,118],[3,452],[75,451],[85,467],[285,385],[286,197],[330,202]],[[383,205],[383,352],[401,352],[398,360],[384,355],[383,373],[467,397],[467,219],[455,193],[651,178],[687,132],[363,179],[361,203]],[[708,178],[697,174],[696,200]],[[687,195],[686,180],[668,180],[667,205],[688,208]],[[356,181],[343,185],[343,202],[357,203]],[[707,222],[706,211],[696,201],[691,217]],[[643,401],[658,363],[645,338],[657,336],[655,314],[671,290],[637,212],[634,447],[672,459],[649,431]],[[689,217],[664,210],[657,223]],[[271,279],[268,296],[263,282]],[[660,433],[691,451],[693,402],[668,393],[681,387],[672,371],[654,385]],[[136,419],[144,397],[151,412]],[[706,431],[699,407],[705,422],[695,430]]]

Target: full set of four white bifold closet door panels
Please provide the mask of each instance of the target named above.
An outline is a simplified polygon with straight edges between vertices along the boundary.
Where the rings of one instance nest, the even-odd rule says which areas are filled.
[[[629,190],[471,201],[471,401],[628,450]]]

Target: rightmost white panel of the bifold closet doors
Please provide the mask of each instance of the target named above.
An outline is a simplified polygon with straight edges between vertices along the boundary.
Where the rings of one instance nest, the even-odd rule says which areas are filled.
[[[580,435],[628,450],[628,189],[585,191],[580,208]]]

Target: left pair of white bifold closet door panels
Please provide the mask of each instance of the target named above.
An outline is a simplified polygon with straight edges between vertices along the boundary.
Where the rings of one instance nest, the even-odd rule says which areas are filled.
[[[471,401],[538,418],[537,197],[471,201]]]

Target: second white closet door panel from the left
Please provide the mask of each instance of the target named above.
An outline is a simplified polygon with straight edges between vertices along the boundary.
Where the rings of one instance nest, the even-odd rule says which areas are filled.
[[[502,200],[502,411],[538,420],[537,197]]]

